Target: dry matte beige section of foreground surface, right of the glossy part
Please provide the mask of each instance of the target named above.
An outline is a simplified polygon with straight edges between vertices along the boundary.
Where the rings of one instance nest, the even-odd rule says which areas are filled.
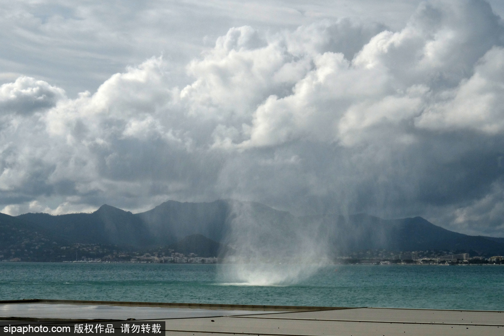
[[[504,313],[357,308],[166,320],[173,335],[504,335]],[[168,332],[169,331],[169,332]]]

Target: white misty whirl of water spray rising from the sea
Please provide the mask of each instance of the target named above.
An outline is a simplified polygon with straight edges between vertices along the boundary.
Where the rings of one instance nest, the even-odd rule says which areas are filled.
[[[288,213],[255,203],[234,202],[220,267],[224,283],[289,286],[328,263],[327,243],[318,228]]]

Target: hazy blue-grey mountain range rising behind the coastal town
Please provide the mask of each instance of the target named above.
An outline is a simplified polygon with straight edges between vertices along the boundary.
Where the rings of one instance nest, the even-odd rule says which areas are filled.
[[[137,249],[172,245],[188,236],[192,238],[176,245],[177,248],[197,249],[202,244],[215,251],[215,244],[205,242],[201,237],[204,236],[234,248],[243,243],[242,237],[251,237],[247,240],[251,245],[276,244],[282,249],[289,247],[291,237],[299,239],[309,233],[316,241],[328,241],[334,255],[368,249],[504,254],[504,238],[456,233],[421,217],[395,220],[366,214],[294,217],[259,203],[229,199],[209,203],[167,201],[139,214],[104,205],[91,214],[25,214],[16,219],[50,232],[55,239]]]

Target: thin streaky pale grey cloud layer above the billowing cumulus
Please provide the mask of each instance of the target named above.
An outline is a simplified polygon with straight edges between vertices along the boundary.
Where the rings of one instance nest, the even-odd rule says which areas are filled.
[[[0,69],[8,71],[0,72],[0,84],[25,74],[65,88],[75,98],[79,92],[94,91],[125,65],[163,54],[171,64],[172,85],[186,85],[185,64],[211,48],[230,27],[278,32],[341,17],[402,27],[419,1],[390,0],[384,6],[369,0],[323,5],[267,0],[19,0],[3,4],[0,13]],[[13,74],[18,76],[12,78]]]

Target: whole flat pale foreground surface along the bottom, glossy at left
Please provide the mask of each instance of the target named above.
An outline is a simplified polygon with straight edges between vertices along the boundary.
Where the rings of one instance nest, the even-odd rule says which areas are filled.
[[[32,300],[0,302],[0,320],[164,320],[167,335],[501,335],[504,312]]]

